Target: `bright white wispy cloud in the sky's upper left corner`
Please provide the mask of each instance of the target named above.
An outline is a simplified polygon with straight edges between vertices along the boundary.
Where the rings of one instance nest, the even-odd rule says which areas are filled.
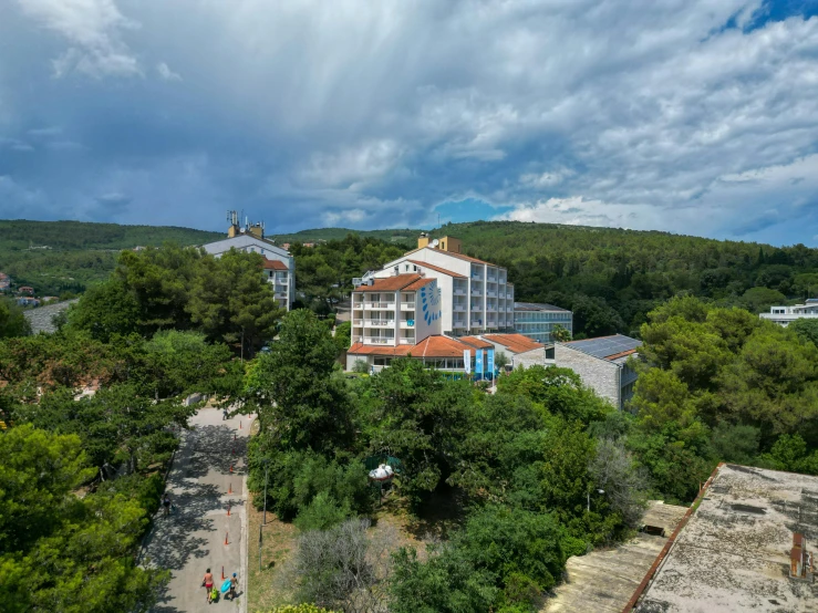
[[[70,46],[52,60],[54,76],[71,72],[103,76],[142,74],[138,61],[122,40],[138,23],[126,19],[113,0],[18,0],[24,14]]]

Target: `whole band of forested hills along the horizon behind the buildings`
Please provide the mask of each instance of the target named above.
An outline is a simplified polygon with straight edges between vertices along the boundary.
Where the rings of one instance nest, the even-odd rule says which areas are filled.
[[[0,247],[0,271],[40,293],[84,291],[114,269],[117,250],[137,245],[201,245],[224,235],[184,228],[112,224],[0,221],[12,240]],[[351,280],[413,249],[420,230],[343,228],[271,235],[296,257],[300,303],[332,312]],[[574,313],[577,337],[639,335],[646,313],[680,293],[753,312],[818,292],[818,250],[773,247],[669,232],[517,221],[447,224],[466,253],[508,268],[520,301]],[[14,238],[17,237],[17,238]],[[314,243],[304,247],[303,243]],[[50,246],[52,250],[30,249]]]

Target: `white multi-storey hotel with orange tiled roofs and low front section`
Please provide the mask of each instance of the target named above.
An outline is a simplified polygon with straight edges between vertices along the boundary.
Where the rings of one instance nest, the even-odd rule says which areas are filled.
[[[503,267],[462,253],[460,241],[444,237],[381,270],[353,280],[352,346],[346,367],[359,361],[374,370],[412,355],[439,370],[463,372],[465,356],[497,347],[527,353],[541,363],[543,345],[514,332],[514,287]],[[496,342],[495,342],[496,341]],[[522,363],[522,362],[520,362]]]

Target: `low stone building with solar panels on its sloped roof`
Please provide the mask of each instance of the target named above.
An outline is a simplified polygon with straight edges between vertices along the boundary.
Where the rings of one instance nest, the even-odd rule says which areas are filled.
[[[628,365],[642,341],[622,334],[555,343],[555,364],[571,368],[582,383],[619,409],[633,396],[636,373]]]

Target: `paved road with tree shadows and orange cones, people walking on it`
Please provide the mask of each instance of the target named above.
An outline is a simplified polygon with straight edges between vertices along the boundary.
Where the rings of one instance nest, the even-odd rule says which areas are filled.
[[[203,408],[190,424],[193,429],[183,433],[182,445],[168,476],[170,498],[177,510],[168,518],[159,512],[142,558],[143,563],[166,568],[173,573],[153,611],[245,612],[247,515],[244,458],[250,423],[247,416],[225,422],[221,411]],[[232,493],[228,493],[230,488]],[[236,602],[219,599],[218,603],[208,606],[201,578],[209,567],[220,586],[222,565],[225,576],[238,573],[239,598]]]

